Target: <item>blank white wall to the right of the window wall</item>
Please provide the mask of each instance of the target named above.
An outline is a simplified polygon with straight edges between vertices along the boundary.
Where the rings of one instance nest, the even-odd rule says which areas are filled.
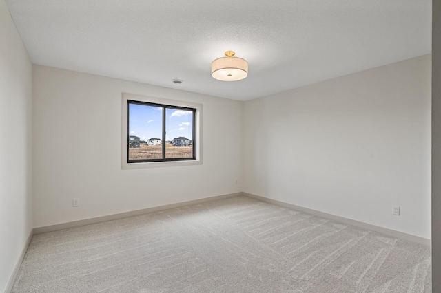
[[[430,239],[431,56],[247,101],[243,132],[245,192]]]

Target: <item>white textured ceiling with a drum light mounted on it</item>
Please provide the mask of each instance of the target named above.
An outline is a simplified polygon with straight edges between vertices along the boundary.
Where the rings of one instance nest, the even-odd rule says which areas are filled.
[[[35,64],[236,100],[431,52],[431,0],[6,4]],[[227,50],[249,62],[245,80],[211,77],[211,61]]]

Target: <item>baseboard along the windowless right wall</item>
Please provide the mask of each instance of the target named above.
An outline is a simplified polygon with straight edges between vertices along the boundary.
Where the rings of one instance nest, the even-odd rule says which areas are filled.
[[[356,226],[359,228],[363,228],[363,229],[367,229],[367,230],[372,230],[375,232],[379,232],[381,234],[390,236],[390,237],[396,237],[396,238],[400,238],[400,239],[404,239],[407,241],[411,241],[414,243],[418,243],[418,244],[422,244],[424,246],[431,246],[431,240],[424,238],[424,237],[419,237],[416,235],[411,235],[411,234],[407,234],[404,232],[400,232],[400,231],[396,231],[396,230],[391,230],[388,228],[384,228],[384,227],[380,227],[380,226],[375,226],[372,224],[367,224],[364,223],[362,221],[356,221],[353,219],[348,219],[345,217],[340,217],[340,216],[336,216],[336,215],[331,215],[328,213],[323,213],[323,212],[319,212],[318,210],[311,210],[310,208],[304,208],[302,206],[296,206],[295,204],[288,204],[287,202],[280,202],[276,199],[270,199],[267,197],[262,197],[260,195],[254,195],[252,193],[243,193],[243,195],[247,196],[247,197],[252,197],[254,199],[258,199],[261,200],[262,202],[268,202],[269,204],[276,204],[278,206],[283,206],[285,208],[291,208],[293,210],[298,210],[300,212],[303,213],[308,213],[311,215],[315,215],[318,217],[323,217],[325,219],[330,219],[332,221],[338,221],[342,224],[347,224],[347,225],[351,225],[351,226]]]

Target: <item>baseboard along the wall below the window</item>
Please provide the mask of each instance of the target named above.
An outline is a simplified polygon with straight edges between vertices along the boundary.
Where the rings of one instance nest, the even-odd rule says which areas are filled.
[[[178,202],[176,204],[166,204],[165,206],[154,206],[153,208],[143,208],[142,210],[132,210],[130,212],[119,213],[119,214],[114,214],[114,215],[106,215],[106,216],[95,217],[95,218],[90,218],[90,219],[82,219],[79,221],[70,221],[67,223],[37,227],[37,228],[34,228],[34,234],[41,234],[41,233],[46,233],[46,232],[63,230],[63,229],[67,229],[67,228],[74,228],[74,227],[79,227],[79,226],[84,226],[84,225],[90,225],[90,224],[100,223],[102,221],[123,219],[125,217],[133,217],[133,216],[137,216],[137,215],[143,215],[143,214],[147,214],[147,213],[157,212],[159,210],[168,210],[170,208],[181,208],[183,206],[191,206],[192,204],[201,204],[203,202],[210,202],[210,201],[216,200],[216,199],[236,197],[239,195],[242,195],[242,193],[241,192],[240,193],[230,193],[227,195],[218,195],[218,196],[214,196],[214,197],[206,197],[203,199],[194,199],[194,200],[190,200],[188,202]]]

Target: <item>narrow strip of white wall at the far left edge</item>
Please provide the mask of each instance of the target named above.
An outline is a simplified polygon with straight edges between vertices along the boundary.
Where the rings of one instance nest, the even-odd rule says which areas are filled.
[[[32,229],[32,63],[0,0],[0,292]]]

